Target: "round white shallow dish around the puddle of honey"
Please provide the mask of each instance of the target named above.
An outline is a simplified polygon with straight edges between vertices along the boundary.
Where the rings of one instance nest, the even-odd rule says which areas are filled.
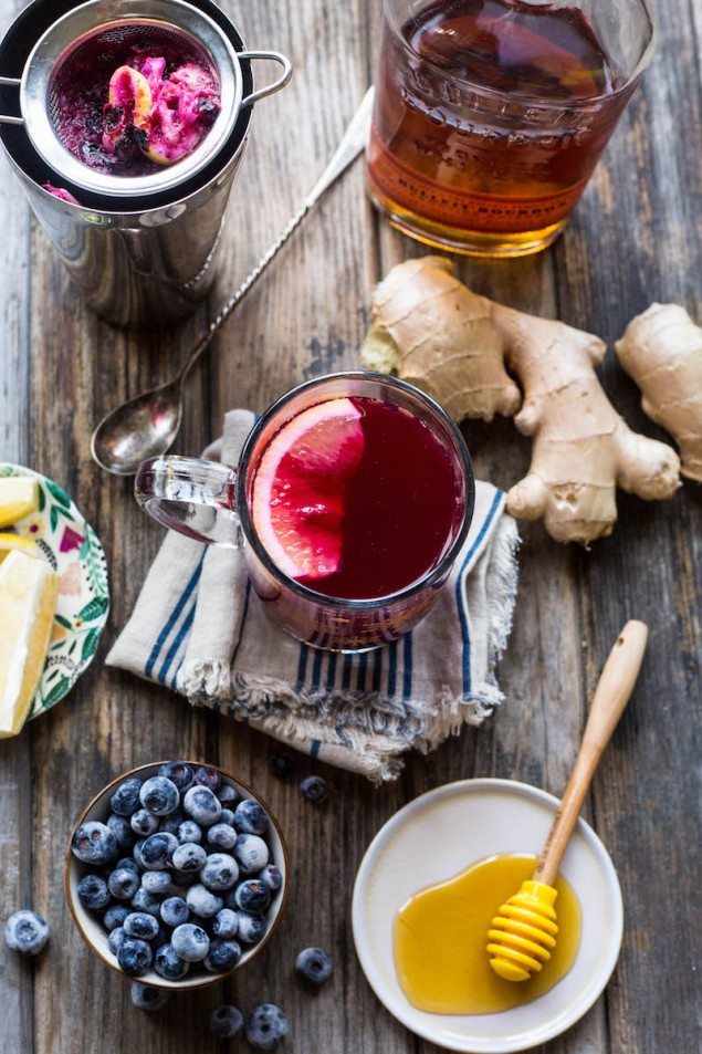
[[[429,1014],[407,1000],[395,972],[392,922],[406,900],[488,856],[537,854],[557,805],[525,783],[463,780],[410,802],[370,843],[354,888],[356,951],[378,999],[422,1039],[468,1054],[528,1050],[578,1021],[607,984],[621,945],[621,890],[605,846],[583,820],[560,865],[583,910],[580,947],[549,992],[500,1014]]]

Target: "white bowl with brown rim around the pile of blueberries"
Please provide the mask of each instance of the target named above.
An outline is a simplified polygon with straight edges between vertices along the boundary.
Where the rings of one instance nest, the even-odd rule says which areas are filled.
[[[184,759],[187,764],[192,765],[198,769],[203,764],[201,761],[188,761]],[[98,921],[98,915],[86,910],[78,900],[77,887],[83,875],[88,874],[92,868],[90,865],[82,864],[74,855],[71,849],[71,844],[73,842],[73,835],[77,827],[82,823],[85,823],[86,820],[99,820],[105,822],[109,813],[112,812],[109,806],[109,799],[119,783],[123,780],[127,780],[129,776],[139,776],[143,780],[147,780],[149,776],[158,774],[160,766],[165,764],[164,761],[155,761],[153,764],[139,765],[137,769],[130,769],[128,772],[123,772],[122,775],[118,775],[112,783],[108,783],[106,787],[97,794],[93,801],[90,803],[87,808],[78,817],[73,831],[71,832],[71,838],[69,841],[69,848],[66,852],[66,865],[64,873],[64,888],[66,899],[69,901],[69,908],[71,915],[73,916],[73,921],[77,926],[78,932],[87,947],[93,951],[98,959],[109,967],[111,970],[115,970],[121,977],[126,978],[127,980],[135,980],[134,978],[127,978],[127,974],[119,969],[117,964],[117,959],[113,956],[109,947],[107,945],[107,932],[104,927]],[[172,989],[174,991],[185,991],[186,989],[195,988],[205,988],[207,984],[213,984],[216,981],[221,981],[222,978],[228,977],[230,973],[233,973],[234,970],[240,970],[243,966],[253,959],[254,956],[261,951],[264,945],[269,942],[273,936],[277,923],[280,921],[281,915],[285,907],[285,901],[287,900],[287,847],[285,845],[285,839],[283,837],[283,832],[280,828],[280,825],[263,801],[260,794],[256,794],[255,791],[252,791],[251,787],[242,783],[241,780],[238,780],[231,772],[228,772],[226,769],[220,769],[219,765],[207,764],[208,769],[214,769],[217,772],[220,772],[222,779],[226,783],[230,783],[233,787],[237,789],[241,797],[252,797],[259,802],[265,810],[271,823],[269,831],[266,833],[266,839],[271,846],[271,863],[275,864],[280,868],[280,872],[283,876],[283,885],[280,890],[273,898],[273,902],[268,910],[268,930],[263,940],[259,941],[258,945],[245,948],[241,959],[233,967],[232,970],[229,970],[224,973],[209,973],[207,970],[203,972],[198,972],[193,977],[186,974],[185,978],[180,981],[167,981],[165,978],[156,973],[155,970],[147,970],[146,973],[136,978],[140,981],[142,984],[149,984],[153,988],[165,988]],[[125,853],[128,856],[128,853]],[[245,947],[245,946],[244,946]]]

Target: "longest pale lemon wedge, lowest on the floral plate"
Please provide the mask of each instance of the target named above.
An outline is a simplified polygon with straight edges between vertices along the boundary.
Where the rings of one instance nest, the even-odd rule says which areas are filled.
[[[17,735],[36,691],[56,608],[59,578],[14,550],[0,565],[0,739]]]

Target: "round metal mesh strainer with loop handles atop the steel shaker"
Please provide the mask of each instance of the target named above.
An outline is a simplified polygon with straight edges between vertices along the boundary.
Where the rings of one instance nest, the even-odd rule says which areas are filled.
[[[219,82],[221,109],[196,149],[158,171],[118,176],[90,168],[66,147],[71,114],[61,106],[56,85],[91,50],[127,49],[144,44],[157,54],[177,48],[196,59]],[[279,80],[243,98],[241,60],[272,59],[283,66]],[[223,31],[202,11],[185,0],[88,0],[57,19],[30,53],[20,79],[0,77],[0,85],[17,85],[21,117],[0,116],[0,123],[24,125],[39,155],[59,181],[96,194],[134,197],[158,194],[195,176],[227,143],[244,106],[282,87],[292,66],[277,52],[237,52]]]

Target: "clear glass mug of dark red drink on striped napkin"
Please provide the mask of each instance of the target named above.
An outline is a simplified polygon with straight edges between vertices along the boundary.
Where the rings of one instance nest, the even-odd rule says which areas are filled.
[[[349,431],[347,445],[338,449],[347,460],[355,458],[338,494],[339,470],[332,477],[325,469],[323,432],[304,432],[314,437],[306,447],[304,439],[295,446],[287,438],[312,419],[322,420],[324,429],[335,416]],[[287,445],[283,455],[281,443]],[[311,477],[317,488],[312,494],[295,477],[301,463],[307,470],[305,459],[321,465]],[[293,637],[350,653],[396,640],[427,614],[465,541],[474,479],[463,437],[438,403],[404,380],[358,371],[305,382],[273,403],[251,430],[235,468],[197,458],[153,458],[137,472],[135,494],[159,523],[201,542],[241,549],[265,612]],[[332,509],[331,521],[315,519],[315,502]],[[304,552],[313,562],[324,550],[316,540],[344,539],[338,544],[346,546],[346,556],[340,550],[338,570],[328,576],[293,575],[287,564],[294,547],[279,555],[282,535],[271,534],[271,523],[279,531],[281,523],[287,525],[286,542],[296,539],[301,510],[307,518],[303,528],[312,523],[315,544]],[[387,535],[384,515],[390,515]],[[332,532],[319,533],[319,522],[323,528],[332,522]],[[405,524],[407,533],[398,536]],[[354,546],[356,533],[380,541],[362,550]],[[428,553],[429,565],[405,581],[410,562],[426,564]]]

